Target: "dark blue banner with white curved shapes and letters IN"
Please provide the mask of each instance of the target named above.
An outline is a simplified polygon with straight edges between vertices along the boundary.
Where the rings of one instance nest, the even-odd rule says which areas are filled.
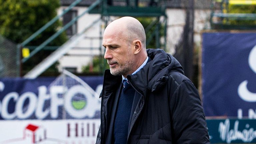
[[[202,34],[206,116],[256,119],[256,33]]]

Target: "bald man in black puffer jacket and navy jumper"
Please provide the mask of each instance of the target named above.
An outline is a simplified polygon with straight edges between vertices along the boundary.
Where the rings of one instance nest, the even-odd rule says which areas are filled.
[[[173,56],[146,50],[137,19],[110,23],[103,46],[110,70],[104,74],[96,144],[210,143],[196,88]]]

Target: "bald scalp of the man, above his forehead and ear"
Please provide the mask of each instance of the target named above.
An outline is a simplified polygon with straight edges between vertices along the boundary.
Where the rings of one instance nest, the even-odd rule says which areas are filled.
[[[146,50],[146,34],[142,24],[133,17],[122,17],[111,22],[105,29],[104,35],[114,32],[127,38],[128,43],[140,40]]]

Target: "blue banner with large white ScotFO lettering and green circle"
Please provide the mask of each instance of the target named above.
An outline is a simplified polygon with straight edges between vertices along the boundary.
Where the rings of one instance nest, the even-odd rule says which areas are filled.
[[[0,79],[0,120],[100,118],[102,76]]]

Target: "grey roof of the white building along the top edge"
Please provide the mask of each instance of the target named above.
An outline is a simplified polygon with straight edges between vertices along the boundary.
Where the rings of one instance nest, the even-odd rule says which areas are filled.
[[[75,0],[60,0],[62,6],[69,6]],[[90,6],[96,0],[83,0],[77,6]],[[113,0],[115,1],[115,0]],[[120,1],[120,0],[117,0]],[[144,0],[145,1],[145,0]],[[167,8],[186,8],[189,0],[165,0]],[[210,9],[211,0],[194,0],[194,7],[196,9]]]

